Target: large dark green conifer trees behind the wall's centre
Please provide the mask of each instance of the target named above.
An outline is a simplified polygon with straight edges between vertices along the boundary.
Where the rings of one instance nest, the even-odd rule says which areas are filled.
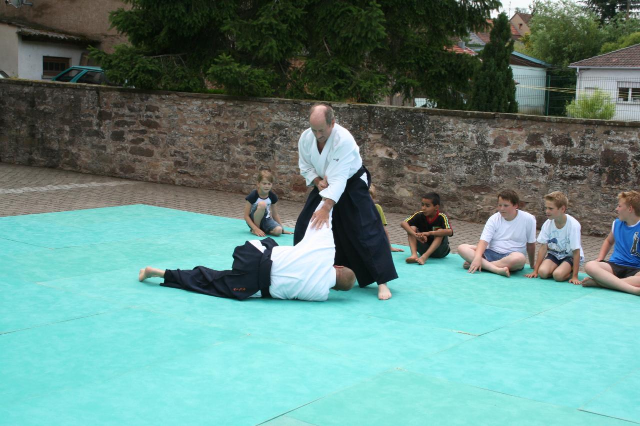
[[[499,0],[124,0],[131,45],[93,57],[138,88],[373,102],[389,90],[460,102],[477,59],[445,49]],[[456,90],[453,90],[453,89]]]

